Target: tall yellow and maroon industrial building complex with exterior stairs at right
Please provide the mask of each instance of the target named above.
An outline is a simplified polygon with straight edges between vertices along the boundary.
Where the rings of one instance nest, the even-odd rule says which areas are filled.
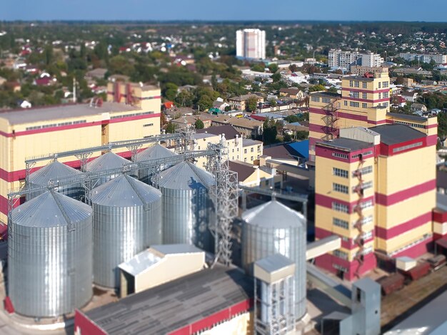
[[[316,264],[350,280],[376,256],[418,257],[433,240],[437,120],[389,113],[389,94],[387,72],[311,94],[316,239],[342,237]]]

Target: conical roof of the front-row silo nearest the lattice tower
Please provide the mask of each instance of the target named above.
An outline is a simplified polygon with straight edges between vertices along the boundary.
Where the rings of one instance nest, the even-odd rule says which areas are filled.
[[[192,163],[182,162],[160,172],[159,185],[176,190],[192,190],[196,187],[208,188],[214,185],[214,176]]]

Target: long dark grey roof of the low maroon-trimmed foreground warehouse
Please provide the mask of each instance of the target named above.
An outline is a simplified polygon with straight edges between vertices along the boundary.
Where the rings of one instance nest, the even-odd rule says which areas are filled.
[[[253,296],[253,281],[216,265],[85,315],[107,334],[166,334]]]

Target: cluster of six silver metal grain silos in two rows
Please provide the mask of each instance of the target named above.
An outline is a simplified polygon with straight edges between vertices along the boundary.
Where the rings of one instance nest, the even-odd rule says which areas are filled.
[[[139,161],[175,155],[154,145]],[[129,161],[106,153],[87,171],[119,168]],[[47,317],[67,314],[92,297],[92,282],[118,288],[118,265],[151,244],[191,243],[211,249],[207,222],[214,177],[191,163],[160,173],[160,190],[122,173],[101,177],[92,206],[76,183],[57,191],[33,192],[12,212],[9,225],[9,297],[17,313]],[[31,173],[29,187],[82,172],[54,161]],[[152,172],[140,177],[149,182]],[[162,210],[163,209],[163,210]],[[162,224],[163,222],[163,224]]]

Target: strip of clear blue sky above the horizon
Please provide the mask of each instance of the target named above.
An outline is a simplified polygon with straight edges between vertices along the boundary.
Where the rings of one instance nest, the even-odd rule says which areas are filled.
[[[0,20],[434,21],[446,0],[1,0]]]

